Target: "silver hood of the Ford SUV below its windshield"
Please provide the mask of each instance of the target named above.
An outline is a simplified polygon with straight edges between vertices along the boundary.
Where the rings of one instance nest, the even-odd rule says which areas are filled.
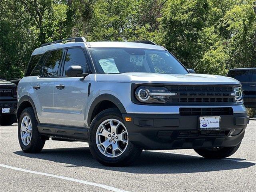
[[[240,84],[231,77],[206,74],[158,74],[158,73],[122,73],[95,74],[98,82],[122,83],[160,83],[160,84]]]

